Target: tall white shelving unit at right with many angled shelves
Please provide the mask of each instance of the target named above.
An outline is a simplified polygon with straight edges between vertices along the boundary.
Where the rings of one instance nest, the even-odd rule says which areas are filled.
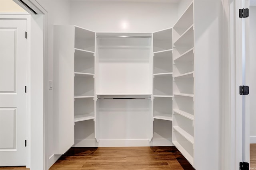
[[[194,3],[173,27],[172,143],[194,165]]]

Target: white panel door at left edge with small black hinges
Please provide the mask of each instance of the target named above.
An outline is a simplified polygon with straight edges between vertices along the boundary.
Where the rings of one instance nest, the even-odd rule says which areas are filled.
[[[0,20],[0,166],[26,165],[26,20]]]

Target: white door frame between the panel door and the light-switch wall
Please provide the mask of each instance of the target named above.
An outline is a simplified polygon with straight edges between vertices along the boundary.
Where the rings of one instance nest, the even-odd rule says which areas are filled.
[[[45,145],[47,110],[47,30],[48,12],[36,0],[23,0],[37,15],[18,0],[13,0],[31,15],[1,13],[1,19],[27,20],[27,153],[26,167],[31,170],[46,170]],[[32,35],[32,36],[30,36]],[[34,130],[36,129],[36,130]]]

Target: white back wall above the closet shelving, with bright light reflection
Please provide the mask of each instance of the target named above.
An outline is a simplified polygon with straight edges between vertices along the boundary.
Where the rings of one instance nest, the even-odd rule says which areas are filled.
[[[177,4],[154,2],[70,2],[70,23],[96,32],[153,32],[172,27]]]

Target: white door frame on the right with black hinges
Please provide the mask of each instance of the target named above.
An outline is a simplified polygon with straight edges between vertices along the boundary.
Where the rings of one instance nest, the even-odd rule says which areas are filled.
[[[239,162],[250,163],[249,96],[239,94],[239,86],[249,85],[249,18],[239,18],[239,9],[249,8],[249,0],[229,0],[229,2],[230,112],[229,118],[224,121],[228,123],[228,133],[224,136],[224,152],[226,152],[224,154],[224,164],[229,163],[226,164],[224,169],[239,170]],[[245,56],[244,59],[243,55]],[[243,60],[245,61],[244,76],[246,76],[244,80],[241,64]],[[243,98],[246,100],[244,110],[242,106]],[[242,115],[243,111],[244,115]]]

